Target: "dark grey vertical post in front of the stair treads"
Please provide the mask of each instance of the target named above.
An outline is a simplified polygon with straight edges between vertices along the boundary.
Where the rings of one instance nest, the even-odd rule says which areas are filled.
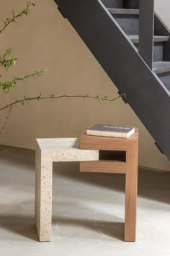
[[[139,1],[139,54],[153,69],[154,0]]]

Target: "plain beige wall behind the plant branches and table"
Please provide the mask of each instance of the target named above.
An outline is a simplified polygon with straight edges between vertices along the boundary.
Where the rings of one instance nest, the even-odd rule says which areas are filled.
[[[162,1],[162,0],[161,0]],[[12,9],[21,9],[23,0],[6,0],[1,4],[0,17],[4,20]],[[10,94],[0,94],[0,105],[42,93],[117,94],[117,88],[104,73],[81,38],[61,14],[53,0],[35,0],[36,7],[19,24],[13,24],[1,35],[1,51],[11,46],[19,58],[12,75],[27,74],[35,69],[47,69],[38,80],[19,84]],[[113,56],[114,57],[114,56]],[[10,73],[10,74],[9,74]],[[1,113],[1,125],[6,112]],[[36,137],[76,137],[84,127],[95,123],[134,125],[140,129],[139,164],[169,170],[168,159],[159,153],[152,137],[130,107],[121,100],[98,103],[86,99],[60,99],[15,106],[1,144],[35,148]]]

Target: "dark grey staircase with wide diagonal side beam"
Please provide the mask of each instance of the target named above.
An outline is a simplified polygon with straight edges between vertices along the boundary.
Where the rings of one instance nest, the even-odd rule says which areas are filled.
[[[170,34],[154,0],[55,0],[170,159]]]

